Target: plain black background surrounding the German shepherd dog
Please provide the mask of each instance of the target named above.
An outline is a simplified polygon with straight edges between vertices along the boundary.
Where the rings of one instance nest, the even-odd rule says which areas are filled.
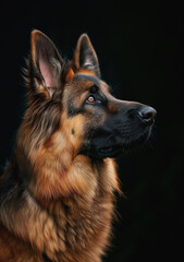
[[[158,111],[150,141],[118,158],[119,222],[105,261],[182,260],[184,175],[184,19],[174,1],[2,1],[0,3],[0,166],[12,154],[24,111],[24,58],[29,33],[47,34],[72,58],[87,33],[102,79],[121,99]]]

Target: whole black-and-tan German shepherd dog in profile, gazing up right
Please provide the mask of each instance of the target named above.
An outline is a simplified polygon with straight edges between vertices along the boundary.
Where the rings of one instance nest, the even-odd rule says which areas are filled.
[[[119,100],[86,34],[64,61],[32,32],[27,107],[0,179],[1,262],[100,262],[110,242],[114,157],[146,141],[156,110]]]

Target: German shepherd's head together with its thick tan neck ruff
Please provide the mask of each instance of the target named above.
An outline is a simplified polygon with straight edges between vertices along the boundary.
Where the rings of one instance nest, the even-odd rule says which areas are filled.
[[[27,109],[15,147],[20,174],[37,198],[89,191],[88,180],[96,184],[91,159],[115,157],[147,140],[156,110],[112,96],[86,34],[71,61],[39,31],[30,46]]]

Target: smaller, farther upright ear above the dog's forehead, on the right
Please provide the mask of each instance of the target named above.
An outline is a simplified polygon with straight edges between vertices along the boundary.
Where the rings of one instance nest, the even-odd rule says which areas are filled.
[[[74,51],[74,66],[76,69],[93,70],[100,78],[97,53],[86,34],[81,35]]]

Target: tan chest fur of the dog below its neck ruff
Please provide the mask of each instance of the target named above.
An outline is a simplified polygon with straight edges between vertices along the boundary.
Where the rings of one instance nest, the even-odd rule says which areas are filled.
[[[89,180],[85,193],[63,198],[47,206],[65,243],[65,251],[59,254],[63,262],[73,261],[72,258],[79,262],[100,261],[109,243],[113,192],[118,189],[115,165],[107,159],[102,165],[94,166],[93,170],[96,182],[90,183]]]

